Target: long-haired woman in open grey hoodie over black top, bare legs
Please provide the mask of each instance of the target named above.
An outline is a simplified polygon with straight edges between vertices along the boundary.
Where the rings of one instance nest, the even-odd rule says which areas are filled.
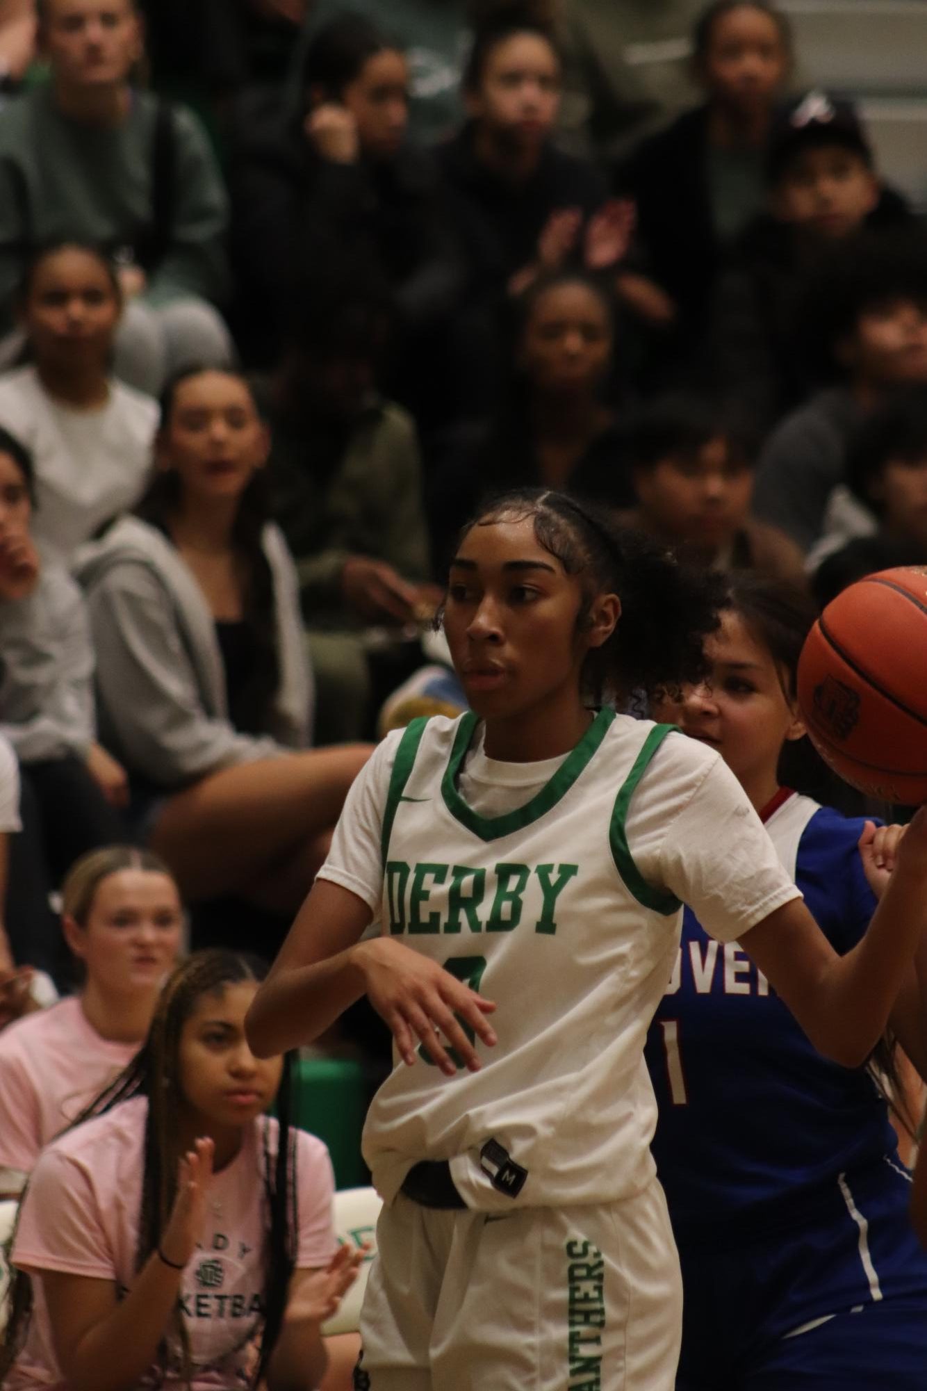
[[[366,746],[310,750],[293,562],[264,506],[268,433],[247,383],[192,370],[163,402],[157,473],[82,570],[103,743],[188,901],[290,915]]]

